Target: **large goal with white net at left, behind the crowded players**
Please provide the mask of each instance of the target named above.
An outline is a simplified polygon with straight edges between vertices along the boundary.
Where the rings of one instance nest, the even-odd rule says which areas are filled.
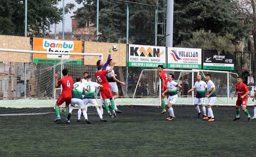
[[[33,51],[28,51],[33,53]],[[73,53],[72,53],[73,55]],[[60,60],[57,64],[38,64],[24,62],[0,62],[0,115],[27,115],[55,112],[54,105],[62,91],[61,86],[55,88],[55,73],[62,77],[62,69],[69,71],[69,76],[81,76],[88,72],[92,81],[96,82],[94,73],[96,66],[83,65],[89,55],[81,54],[82,58]],[[91,54],[95,56],[95,54]],[[102,54],[98,54],[99,59]],[[73,64],[82,59],[82,64]],[[97,96],[98,91],[95,92]],[[96,97],[97,98],[97,97]],[[65,110],[65,104],[61,106]],[[88,107],[88,113],[96,113]]]

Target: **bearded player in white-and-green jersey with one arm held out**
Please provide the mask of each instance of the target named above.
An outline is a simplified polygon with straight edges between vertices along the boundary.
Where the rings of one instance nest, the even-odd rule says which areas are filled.
[[[194,87],[188,90],[188,94],[191,91],[196,90],[196,98],[195,98],[195,109],[198,111],[198,118],[200,118],[201,111],[199,109],[199,104],[201,104],[202,111],[203,111],[203,118],[206,116],[206,109],[205,109],[205,92],[207,92],[207,84],[201,80],[202,75],[197,75]]]

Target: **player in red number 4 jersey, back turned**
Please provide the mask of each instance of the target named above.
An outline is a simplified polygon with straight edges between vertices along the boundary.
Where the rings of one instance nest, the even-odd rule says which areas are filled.
[[[71,101],[72,96],[72,88],[73,88],[73,78],[68,76],[68,69],[62,70],[62,75],[64,76],[62,79],[58,81],[58,75],[55,74],[55,88],[58,88],[60,85],[62,85],[62,92],[55,104],[55,111],[57,115],[57,119],[54,120],[54,122],[57,122],[60,120],[60,109],[59,106],[62,105],[64,102],[66,102],[66,118],[68,117],[69,113],[69,104]]]

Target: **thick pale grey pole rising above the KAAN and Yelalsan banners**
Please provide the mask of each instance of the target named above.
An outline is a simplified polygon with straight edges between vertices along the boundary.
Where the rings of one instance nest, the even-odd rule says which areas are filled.
[[[166,47],[172,47],[173,45],[173,9],[174,0],[167,0],[167,9],[166,9]]]

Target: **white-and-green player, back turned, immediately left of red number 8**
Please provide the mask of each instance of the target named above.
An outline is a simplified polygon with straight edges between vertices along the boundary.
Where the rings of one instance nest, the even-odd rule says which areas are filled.
[[[103,86],[101,84],[97,84],[96,82],[92,82],[90,75],[87,76],[87,82],[84,84],[84,86],[90,90],[90,91],[85,91],[85,93],[84,93],[83,100],[84,100],[85,110],[87,111],[87,107],[88,107],[87,104],[90,103],[92,106],[95,107],[95,109],[100,117],[100,120],[103,122],[106,122],[107,120],[102,117],[101,110],[99,109],[99,106],[95,100],[95,89],[98,87],[102,88]],[[80,117],[78,117],[77,121],[80,121]]]

